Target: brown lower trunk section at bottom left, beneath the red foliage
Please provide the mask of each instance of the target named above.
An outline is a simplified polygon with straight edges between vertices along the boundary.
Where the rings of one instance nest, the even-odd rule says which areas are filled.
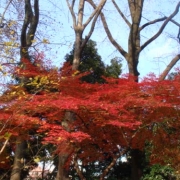
[[[16,140],[16,150],[10,180],[21,180],[21,170],[24,166],[24,152],[26,143],[21,138]]]

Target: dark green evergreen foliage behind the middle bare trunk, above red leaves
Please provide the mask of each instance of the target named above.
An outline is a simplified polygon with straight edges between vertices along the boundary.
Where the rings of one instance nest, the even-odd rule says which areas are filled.
[[[73,62],[74,47],[69,54],[65,56],[66,62]],[[121,73],[120,60],[114,58],[111,60],[111,65],[104,65],[101,56],[98,54],[96,42],[89,40],[82,51],[80,58],[79,71],[89,72],[88,75],[82,77],[83,81],[89,83],[105,83],[103,76],[118,78]]]

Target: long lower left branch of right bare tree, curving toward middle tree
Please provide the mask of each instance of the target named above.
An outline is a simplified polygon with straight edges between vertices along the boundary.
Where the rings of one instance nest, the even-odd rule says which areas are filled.
[[[86,0],[94,9],[96,8],[96,5],[94,4],[94,2],[92,0]],[[116,42],[116,40],[112,37],[112,34],[108,28],[106,19],[104,17],[104,14],[101,12],[100,14],[101,16],[101,20],[104,26],[104,29],[106,31],[106,34],[109,38],[109,40],[111,41],[111,43],[117,48],[117,50],[125,57],[127,55],[127,52]]]

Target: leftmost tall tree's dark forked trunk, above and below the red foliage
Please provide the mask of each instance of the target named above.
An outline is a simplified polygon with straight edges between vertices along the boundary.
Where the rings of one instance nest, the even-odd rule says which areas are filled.
[[[29,48],[31,47],[37,25],[39,22],[39,0],[34,0],[32,5],[31,0],[24,1],[24,22],[21,30],[21,46],[20,46],[20,63],[23,66],[23,69],[27,69],[27,66],[32,64]],[[24,78],[19,79],[19,83],[23,85]],[[14,155],[14,164],[11,172],[10,180],[20,180],[21,179],[21,170],[24,166],[24,155],[26,150],[26,142],[23,139],[23,134],[19,134],[19,137],[16,140],[16,149]]]

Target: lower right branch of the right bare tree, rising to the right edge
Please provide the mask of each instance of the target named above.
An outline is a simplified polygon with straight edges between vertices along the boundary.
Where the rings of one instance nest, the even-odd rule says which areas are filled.
[[[172,18],[179,12],[179,6],[180,6],[180,2],[177,4],[175,11],[164,21],[159,31],[141,46],[140,51],[142,51],[148,44],[154,41],[163,32],[164,28],[169,23],[169,21],[171,21]]]

